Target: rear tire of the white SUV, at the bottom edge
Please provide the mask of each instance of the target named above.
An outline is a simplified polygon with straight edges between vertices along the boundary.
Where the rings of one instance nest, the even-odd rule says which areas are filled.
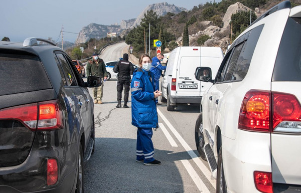
[[[216,193],[227,193],[227,186],[226,186],[224,167],[223,167],[222,147],[220,147],[220,150],[218,152]]]

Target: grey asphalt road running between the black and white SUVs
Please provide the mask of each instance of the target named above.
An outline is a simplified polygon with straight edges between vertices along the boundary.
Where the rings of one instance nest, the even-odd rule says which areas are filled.
[[[110,52],[101,58],[117,56],[122,46],[106,50]],[[85,192],[215,192],[216,180],[195,145],[200,106],[179,106],[174,112],[167,111],[166,103],[158,106],[160,128],[152,139],[154,157],[162,164],[146,166],[135,161],[137,128],[131,125],[131,108],[115,107],[116,82],[104,82],[104,104],[94,105],[95,152],[85,165]]]

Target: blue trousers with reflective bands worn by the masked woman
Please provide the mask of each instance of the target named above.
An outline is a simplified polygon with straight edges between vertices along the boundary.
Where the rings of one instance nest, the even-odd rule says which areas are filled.
[[[138,127],[136,150],[137,160],[144,160],[144,163],[149,163],[155,160],[152,136],[153,128]]]

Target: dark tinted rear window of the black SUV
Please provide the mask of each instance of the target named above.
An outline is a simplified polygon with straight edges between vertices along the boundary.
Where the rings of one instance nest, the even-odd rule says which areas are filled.
[[[52,88],[37,56],[0,53],[0,96]]]

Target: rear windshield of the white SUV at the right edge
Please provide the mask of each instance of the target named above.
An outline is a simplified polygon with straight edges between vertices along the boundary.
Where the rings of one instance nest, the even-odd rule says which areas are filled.
[[[301,81],[301,18],[288,18],[272,81]]]

